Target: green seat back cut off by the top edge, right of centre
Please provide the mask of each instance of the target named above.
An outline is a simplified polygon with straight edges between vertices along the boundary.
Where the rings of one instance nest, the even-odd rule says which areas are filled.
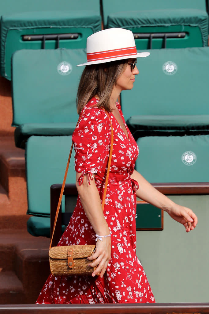
[[[206,11],[205,0],[103,0],[104,24],[107,25],[107,17],[118,12],[138,10],[166,10],[169,9],[199,9]]]

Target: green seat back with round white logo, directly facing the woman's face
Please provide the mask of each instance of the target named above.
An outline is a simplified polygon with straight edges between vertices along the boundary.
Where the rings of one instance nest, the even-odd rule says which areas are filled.
[[[209,47],[154,49],[137,67],[133,89],[121,93],[125,120],[209,115]]]

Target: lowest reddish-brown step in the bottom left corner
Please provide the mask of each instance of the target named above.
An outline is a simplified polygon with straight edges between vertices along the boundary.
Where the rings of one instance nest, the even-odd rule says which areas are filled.
[[[0,272],[0,304],[24,304],[21,281],[12,271]]]

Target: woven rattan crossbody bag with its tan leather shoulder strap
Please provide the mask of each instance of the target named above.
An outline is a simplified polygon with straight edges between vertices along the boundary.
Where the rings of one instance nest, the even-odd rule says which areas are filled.
[[[105,111],[106,114],[109,117],[109,114],[107,111]],[[82,116],[82,115],[81,115]],[[81,116],[78,120],[78,123],[81,119]],[[110,153],[109,153],[109,159],[108,159],[108,165],[107,165],[107,175],[105,179],[105,187],[104,187],[104,193],[103,193],[103,198],[102,198],[102,210],[104,210],[104,205],[105,205],[105,198],[106,198],[106,192],[107,192],[107,183],[108,183],[108,177],[109,177],[109,171],[110,171],[110,164],[111,164],[111,159],[112,159],[112,149],[113,149],[113,129],[112,129],[112,122],[109,117],[110,124],[111,124],[111,146],[110,146]],[[77,123],[77,125],[78,125]],[[76,127],[77,127],[76,125]],[[53,276],[62,276],[62,275],[91,275],[93,271],[97,267],[90,267],[88,266],[89,260],[87,257],[93,255],[94,250],[95,250],[95,245],[69,245],[69,246],[53,246],[52,245],[52,239],[54,236],[54,231],[55,231],[55,226],[57,222],[57,217],[58,213],[60,210],[60,205],[62,201],[62,196],[64,192],[64,187],[65,187],[65,181],[67,177],[67,172],[70,164],[70,159],[71,159],[71,154],[72,154],[72,149],[73,149],[73,143],[71,145],[71,150],[65,170],[65,176],[60,192],[60,198],[59,202],[57,205],[57,211],[55,215],[55,222],[54,222],[54,227],[53,227],[53,232],[51,236],[51,243],[50,243],[50,249],[49,249],[49,261],[50,261],[50,270]]]

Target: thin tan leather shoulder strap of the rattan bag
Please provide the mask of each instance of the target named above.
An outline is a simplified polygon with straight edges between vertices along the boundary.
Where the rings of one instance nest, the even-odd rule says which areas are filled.
[[[85,111],[83,111],[82,114],[80,115],[80,117],[78,119],[78,122],[76,124],[76,127],[77,127],[79,121],[81,120],[81,117],[83,116],[84,112]],[[105,198],[106,198],[106,193],[107,193],[107,183],[108,183],[108,177],[109,177],[109,172],[110,172],[110,165],[111,165],[111,159],[112,159],[112,149],[113,149],[112,121],[111,121],[110,116],[107,113],[107,111],[105,111],[105,112],[106,112],[106,114],[107,114],[107,116],[108,116],[108,118],[110,120],[110,125],[111,125],[111,145],[110,145],[110,153],[109,153],[109,159],[108,159],[108,165],[107,165],[107,175],[106,175],[106,180],[105,180],[104,193],[103,193],[103,198],[102,198],[102,210],[104,210],[104,205],[105,205]],[[53,227],[53,231],[52,231],[51,242],[50,242],[50,247],[49,248],[51,248],[51,245],[52,245],[52,240],[53,240],[53,236],[54,236],[54,232],[55,232],[55,226],[56,226],[56,223],[57,223],[57,217],[58,217],[58,214],[59,214],[59,211],[60,211],[60,205],[61,205],[62,196],[63,196],[63,192],[64,192],[64,188],[65,188],[65,182],[66,182],[67,172],[68,172],[69,165],[70,165],[72,150],[73,150],[73,143],[71,145],[71,150],[70,150],[70,154],[69,154],[69,157],[68,157],[67,166],[66,166],[66,169],[65,169],[65,176],[64,176],[63,183],[62,183],[62,188],[61,188],[61,192],[60,192],[59,202],[58,202],[58,205],[57,205],[55,221],[54,221],[54,227]]]

